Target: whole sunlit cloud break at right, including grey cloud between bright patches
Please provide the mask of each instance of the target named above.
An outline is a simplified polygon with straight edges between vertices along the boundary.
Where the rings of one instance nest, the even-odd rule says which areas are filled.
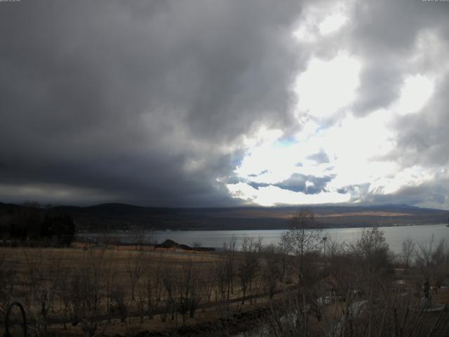
[[[371,10],[383,13],[379,6]],[[430,157],[432,151],[443,153],[430,147],[443,133],[424,131],[434,130],[436,116],[444,116],[449,68],[441,60],[449,55],[447,39],[437,25],[410,22],[415,35],[405,41],[398,30],[385,34],[382,22],[371,22],[370,15],[354,1],[304,6],[292,33],[309,52],[293,81],[292,110],[301,128],[293,135],[277,129],[270,140],[246,147],[234,170],[238,183],[227,184],[233,197],[263,205],[389,196],[407,202],[415,199],[406,191],[420,191],[436,177],[448,179]],[[284,138],[289,141],[279,146]],[[429,162],[417,151],[425,151]],[[441,161],[448,161],[447,155]],[[435,198],[422,202],[447,199]]]

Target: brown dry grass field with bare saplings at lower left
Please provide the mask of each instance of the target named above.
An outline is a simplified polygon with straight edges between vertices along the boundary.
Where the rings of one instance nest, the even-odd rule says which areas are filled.
[[[242,305],[235,277],[225,284],[229,279],[222,275],[217,284],[223,253],[81,247],[0,248],[0,282],[8,289],[1,293],[2,316],[6,303],[18,300],[36,331],[48,336],[133,336],[213,324],[267,302],[256,298]],[[256,283],[246,296],[262,293],[262,279]]]

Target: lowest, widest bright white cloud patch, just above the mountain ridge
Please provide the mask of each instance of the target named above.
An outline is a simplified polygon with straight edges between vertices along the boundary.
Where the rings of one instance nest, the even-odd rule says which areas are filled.
[[[390,127],[394,118],[390,110],[378,110],[367,117],[349,114],[340,123],[313,135],[306,131],[307,137],[302,138],[304,133],[297,133],[295,141],[287,145],[279,146],[276,139],[253,147],[235,170],[243,182],[227,185],[229,192],[233,197],[264,206],[323,204],[361,201],[367,193],[391,194],[430,181],[435,174],[432,169],[413,166],[402,170],[394,160],[385,159],[396,146],[396,135]],[[311,159],[319,152],[325,152],[329,162]],[[274,186],[294,173],[331,180],[326,184],[326,192],[318,194]],[[255,188],[248,183],[269,185]],[[305,182],[305,187],[312,186],[311,180]],[[342,190],[347,192],[341,193]]]

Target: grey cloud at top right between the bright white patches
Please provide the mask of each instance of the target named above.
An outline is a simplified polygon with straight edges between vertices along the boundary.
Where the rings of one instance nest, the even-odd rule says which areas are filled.
[[[351,51],[363,58],[356,114],[388,107],[404,76],[424,70],[409,61],[417,37],[424,29],[447,34],[448,15],[449,6],[442,1],[357,1],[347,39]]]

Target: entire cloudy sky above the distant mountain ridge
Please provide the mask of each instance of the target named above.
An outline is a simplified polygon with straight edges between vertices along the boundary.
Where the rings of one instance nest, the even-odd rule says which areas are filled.
[[[449,209],[449,1],[0,2],[0,201]]]

